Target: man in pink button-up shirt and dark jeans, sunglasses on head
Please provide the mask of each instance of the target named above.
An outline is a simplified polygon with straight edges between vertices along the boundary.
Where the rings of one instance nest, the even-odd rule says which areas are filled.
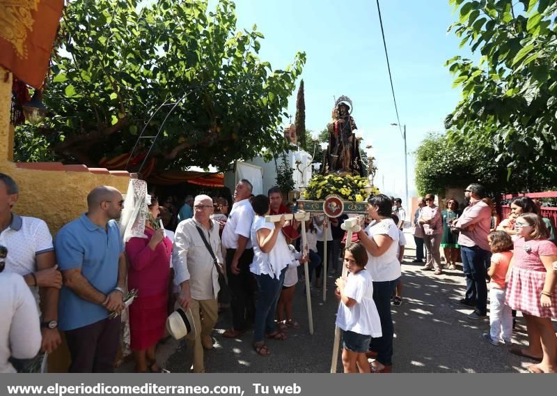
[[[462,255],[462,268],[466,275],[466,296],[459,303],[467,307],[476,307],[468,316],[469,319],[475,320],[487,317],[487,273],[484,263],[491,255],[487,235],[491,227],[492,209],[482,201],[485,196],[483,185],[469,185],[464,190],[464,197],[469,206],[464,208],[462,216],[453,222],[453,227],[460,230],[458,244]]]

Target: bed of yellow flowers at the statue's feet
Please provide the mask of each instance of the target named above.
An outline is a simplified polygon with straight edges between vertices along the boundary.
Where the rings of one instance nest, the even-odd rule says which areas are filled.
[[[362,176],[336,176],[317,174],[311,178],[302,195],[303,199],[319,201],[327,195],[336,194],[347,201],[361,202],[368,195],[366,193],[368,179]],[[372,187],[371,195],[379,194],[379,189]]]

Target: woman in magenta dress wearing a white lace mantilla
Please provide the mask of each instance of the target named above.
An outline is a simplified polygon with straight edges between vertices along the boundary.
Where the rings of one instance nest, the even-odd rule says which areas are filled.
[[[164,235],[164,229],[157,227],[157,199],[152,199],[148,209],[146,238],[134,237],[126,243],[130,260],[127,286],[138,291],[130,305],[130,348],[134,351],[136,372],[161,372],[155,351],[166,324],[172,242]]]

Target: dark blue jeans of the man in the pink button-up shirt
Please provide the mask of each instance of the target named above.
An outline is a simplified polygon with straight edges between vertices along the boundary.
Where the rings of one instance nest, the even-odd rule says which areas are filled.
[[[480,314],[487,312],[487,284],[485,282],[485,260],[491,257],[491,252],[479,246],[460,247],[462,269],[466,276],[466,300],[476,301],[476,309]]]

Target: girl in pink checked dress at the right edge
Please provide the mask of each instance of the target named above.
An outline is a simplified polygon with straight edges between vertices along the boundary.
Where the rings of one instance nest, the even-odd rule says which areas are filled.
[[[519,238],[507,273],[507,304],[524,315],[530,347],[541,340],[542,361],[527,367],[528,371],[557,372],[557,337],[551,323],[557,319],[557,277],[553,270],[557,247],[547,240],[549,230],[535,213],[520,215],[515,229]],[[537,357],[535,351],[520,352],[521,356]]]

